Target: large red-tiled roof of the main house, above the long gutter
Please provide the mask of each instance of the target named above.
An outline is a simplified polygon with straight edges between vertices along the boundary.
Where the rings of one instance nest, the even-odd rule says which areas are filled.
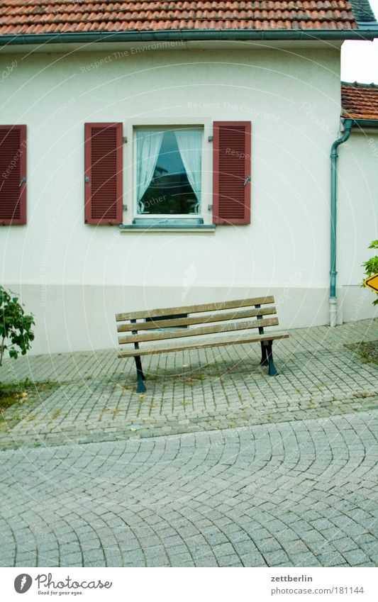
[[[374,21],[369,0],[0,0],[0,35],[167,30],[358,30],[364,28],[361,23],[372,24]]]

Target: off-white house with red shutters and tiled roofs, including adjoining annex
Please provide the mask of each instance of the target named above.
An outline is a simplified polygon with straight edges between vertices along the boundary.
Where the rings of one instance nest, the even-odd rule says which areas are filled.
[[[282,328],[373,316],[378,94],[341,105],[340,48],[377,36],[367,0],[3,0],[1,283],[33,352],[245,295]]]

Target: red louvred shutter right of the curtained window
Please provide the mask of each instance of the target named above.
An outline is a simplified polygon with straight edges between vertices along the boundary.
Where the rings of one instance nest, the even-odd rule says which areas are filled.
[[[250,223],[250,121],[214,121],[213,223]]]

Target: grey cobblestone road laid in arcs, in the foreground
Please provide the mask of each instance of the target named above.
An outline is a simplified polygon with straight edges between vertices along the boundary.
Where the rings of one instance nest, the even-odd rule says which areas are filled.
[[[378,411],[0,452],[1,566],[373,566]]]

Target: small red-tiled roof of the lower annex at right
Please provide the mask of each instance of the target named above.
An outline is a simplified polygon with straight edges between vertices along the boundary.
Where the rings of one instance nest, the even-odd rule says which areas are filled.
[[[341,82],[343,117],[378,120],[378,85]]]

